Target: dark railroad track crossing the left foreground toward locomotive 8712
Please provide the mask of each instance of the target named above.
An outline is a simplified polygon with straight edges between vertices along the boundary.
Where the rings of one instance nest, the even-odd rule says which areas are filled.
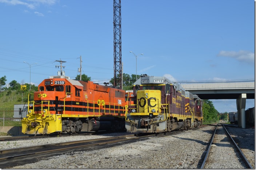
[[[131,134],[118,137],[89,139],[73,142],[63,142],[48,145],[0,150],[0,168],[3,169],[27,163],[33,163],[48,157],[70,152],[102,149],[106,147],[123,145],[125,143],[163,137],[166,135],[171,134],[151,134],[143,136],[135,136],[134,134]]]

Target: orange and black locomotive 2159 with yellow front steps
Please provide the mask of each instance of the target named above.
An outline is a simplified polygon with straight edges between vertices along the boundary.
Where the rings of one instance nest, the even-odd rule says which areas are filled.
[[[24,134],[125,130],[124,90],[67,76],[51,76],[38,90],[21,119]]]

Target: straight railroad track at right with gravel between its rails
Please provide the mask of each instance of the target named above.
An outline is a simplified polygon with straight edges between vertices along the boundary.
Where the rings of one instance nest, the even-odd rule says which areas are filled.
[[[204,161],[201,165],[201,169],[226,168],[223,166],[226,166],[230,159],[237,159],[238,161],[232,161],[233,167],[229,168],[253,169],[225,126],[219,126],[219,124],[217,124],[211,142],[209,143],[207,153],[205,154]]]

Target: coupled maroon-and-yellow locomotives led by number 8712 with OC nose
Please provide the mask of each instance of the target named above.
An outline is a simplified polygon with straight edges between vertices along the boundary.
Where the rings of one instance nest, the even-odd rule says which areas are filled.
[[[125,128],[135,133],[163,133],[203,124],[203,101],[166,77],[142,75],[133,84]]]

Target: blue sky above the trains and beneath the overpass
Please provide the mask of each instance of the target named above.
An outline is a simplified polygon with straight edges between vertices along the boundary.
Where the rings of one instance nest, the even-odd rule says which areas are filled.
[[[38,85],[57,75],[56,60],[74,79],[80,56],[92,81],[113,78],[113,0],[0,0],[0,16],[0,77],[7,84]],[[122,0],[121,61],[131,75],[130,51],[138,75],[255,81],[255,1]],[[211,101],[220,113],[237,111],[236,100]],[[245,109],[254,106],[248,99]]]

